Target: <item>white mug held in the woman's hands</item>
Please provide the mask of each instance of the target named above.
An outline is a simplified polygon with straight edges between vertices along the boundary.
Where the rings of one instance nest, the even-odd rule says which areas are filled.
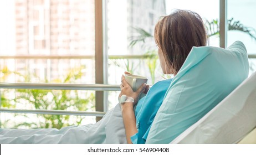
[[[147,83],[147,77],[132,74],[125,74],[125,80],[131,86],[133,91],[139,89],[142,84]]]

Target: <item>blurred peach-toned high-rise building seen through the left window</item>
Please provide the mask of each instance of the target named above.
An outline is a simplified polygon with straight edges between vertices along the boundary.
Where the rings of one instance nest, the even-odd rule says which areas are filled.
[[[93,58],[94,1],[18,0],[14,2],[14,11],[16,55],[91,55]],[[25,62],[17,59],[16,71],[35,73],[42,82],[45,78],[52,81],[62,77],[79,65],[84,65],[88,74],[94,72],[93,59],[26,59]],[[94,82],[93,79],[88,76],[86,81]]]

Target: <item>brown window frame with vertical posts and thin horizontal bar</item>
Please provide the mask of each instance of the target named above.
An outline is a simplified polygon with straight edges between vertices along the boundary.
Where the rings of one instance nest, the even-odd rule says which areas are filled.
[[[95,0],[95,86],[101,84],[102,86],[108,85],[107,83],[107,61],[110,58],[116,57],[115,55],[107,54],[107,0]],[[222,48],[227,47],[227,0],[219,0],[219,46]],[[136,58],[136,55],[119,55],[120,58]],[[138,57],[138,55],[137,55]],[[256,59],[256,54],[249,54],[249,58]],[[2,59],[91,59],[92,55],[50,55],[50,56],[37,56],[37,55],[15,55],[15,56],[1,56]],[[139,55],[139,59],[142,55]],[[28,84],[29,85],[29,84]],[[84,85],[86,87],[86,85]],[[110,85],[109,85],[110,86]],[[14,86],[15,87],[15,86]],[[13,87],[13,88],[14,88]],[[71,87],[71,86],[70,86]],[[117,85],[114,86],[117,89]],[[1,87],[2,88],[2,87]],[[103,87],[102,87],[103,88]],[[1,105],[1,102],[0,102]],[[1,107],[0,107],[1,108]],[[108,110],[107,91],[105,89],[95,90],[95,111],[106,112]],[[97,116],[96,121],[102,117]]]

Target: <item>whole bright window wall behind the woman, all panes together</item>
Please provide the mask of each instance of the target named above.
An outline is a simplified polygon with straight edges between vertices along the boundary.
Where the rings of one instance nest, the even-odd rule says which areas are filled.
[[[228,2],[226,20],[256,28],[253,0],[1,1],[0,82],[106,84],[118,88],[121,74],[130,71],[149,77],[148,83],[154,84],[171,77],[163,75],[158,63],[153,39],[158,19],[175,8],[197,12],[206,24],[209,45],[219,46],[223,39],[218,35],[219,16],[223,14],[220,2]],[[227,45],[241,40],[248,54],[255,57],[255,39],[248,33],[227,34]],[[255,36],[255,31],[252,34]],[[256,61],[250,59],[250,73],[255,70]],[[106,112],[117,104],[118,95],[116,90],[1,89],[1,108]],[[98,119],[3,112],[0,117],[1,127],[17,128],[61,128]]]

